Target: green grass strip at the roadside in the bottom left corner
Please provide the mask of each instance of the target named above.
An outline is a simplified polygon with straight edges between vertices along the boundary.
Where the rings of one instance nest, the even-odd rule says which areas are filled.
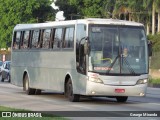
[[[16,109],[16,108],[10,108],[10,107],[4,107],[0,106],[0,119],[2,117],[2,112],[15,112],[15,113],[24,113],[25,115],[28,115],[27,113],[32,113],[32,111],[24,110],[24,109]],[[39,112],[40,113],[40,112]],[[68,120],[63,117],[58,117],[51,114],[41,113],[42,117],[3,117],[3,120]]]

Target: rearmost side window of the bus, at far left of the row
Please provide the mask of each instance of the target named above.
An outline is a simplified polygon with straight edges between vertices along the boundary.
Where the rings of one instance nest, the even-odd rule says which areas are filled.
[[[19,49],[21,32],[14,33],[13,49]]]

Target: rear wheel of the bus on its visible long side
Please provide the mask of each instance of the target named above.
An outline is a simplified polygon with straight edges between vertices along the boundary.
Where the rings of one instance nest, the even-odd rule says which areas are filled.
[[[32,89],[29,87],[28,75],[25,75],[25,78],[24,78],[24,90],[28,95],[34,95],[36,91],[35,89]]]

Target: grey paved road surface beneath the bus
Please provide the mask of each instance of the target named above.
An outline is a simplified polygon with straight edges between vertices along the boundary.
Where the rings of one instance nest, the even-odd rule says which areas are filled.
[[[105,97],[82,98],[81,102],[69,102],[62,94],[42,92],[41,95],[26,95],[22,87],[0,82],[0,105],[32,111],[95,111],[95,116],[95,113],[99,114],[98,111],[119,111],[119,113],[129,111],[132,116],[132,112],[135,111],[141,111],[139,113],[160,111],[160,89],[148,87],[146,97],[129,97],[126,103],[117,103],[115,99]],[[132,116],[131,119],[133,118],[135,117]],[[160,120],[160,117],[142,119]]]

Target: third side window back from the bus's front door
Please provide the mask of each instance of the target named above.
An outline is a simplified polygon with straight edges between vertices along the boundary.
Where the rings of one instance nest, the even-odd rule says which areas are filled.
[[[47,49],[49,48],[49,43],[50,43],[50,38],[51,38],[50,34],[51,34],[50,29],[44,30],[42,48],[47,48]]]

